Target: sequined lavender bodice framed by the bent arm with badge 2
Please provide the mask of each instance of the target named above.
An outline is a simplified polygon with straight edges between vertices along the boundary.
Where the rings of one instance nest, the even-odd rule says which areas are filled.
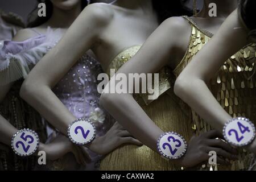
[[[68,108],[76,118],[89,118],[96,126],[97,136],[104,135],[115,120],[99,105],[100,94],[97,91],[97,76],[102,73],[98,61],[88,55],[84,55],[71,68],[60,82],[55,86],[53,92],[61,102]],[[76,170],[94,170],[99,168],[101,155],[89,151],[92,158],[91,163],[86,167],[74,164],[70,156],[53,162],[52,170],[73,169]]]

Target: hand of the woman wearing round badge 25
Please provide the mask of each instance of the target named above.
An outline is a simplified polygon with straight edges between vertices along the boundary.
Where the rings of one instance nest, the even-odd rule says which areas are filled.
[[[89,154],[85,150],[81,150],[79,146],[73,144],[62,134],[58,134],[49,144],[40,143],[39,151],[45,151],[48,160],[60,159],[68,152],[72,152],[75,155],[79,164],[86,166],[86,161],[90,160]]]

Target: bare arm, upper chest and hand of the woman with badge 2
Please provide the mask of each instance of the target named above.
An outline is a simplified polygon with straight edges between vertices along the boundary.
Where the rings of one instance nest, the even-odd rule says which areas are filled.
[[[28,76],[23,83],[20,90],[22,98],[64,135],[67,135],[69,123],[76,118],[55,96],[51,88],[87,50],[92,49],[98,60],[101,61],[102,67],[106,69],[114,55],[117,55],[123,48],[142,44],[158,26],[156,16],[150,6],[151,3],[145,3],[145,6],[141,9],[139,5],[147,1],[129,2],[133,3],[118,1],[118,5],[129,7],[131,5],[132,9],[105,3],[97,3],[86,7],[71,28],[68,29],[63,39],[60,40],[60,43],[39,62],[42,64],[35,66],[35,71],[33,69],[31,76]],[[145,22],[145,19],[148,22]],[[126,36],[130,33],[125,31],[126,29],[129,30],[129,23],[138,24],[137,34],[133,38]],[[119,25],[123,26],[122,31],[115,31],[115,27]],[[122,42],[119,41],[117,35],[123,37]],[[36,74],[36,77],[33,76],[34,74]],[[42,75],[44,78],[42,78]],[[118,123],[115,123],[114,126],[118,130],[117,132],[112,131],[106,134],[111,140],[98,137],[86,147],[98,154],[107,154],[123,143],[141,144],[139,140],[131,137],[125,129],[118,125]],[[114,137],[115,135],[117,137]],[[101,143],[101,147],[97,148],[99,143]]]

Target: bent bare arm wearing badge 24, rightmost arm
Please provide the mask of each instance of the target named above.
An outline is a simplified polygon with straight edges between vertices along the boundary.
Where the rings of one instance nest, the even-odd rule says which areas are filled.
[[[217,102],[207,84],[221,65],[246,46],[246,43],[247,32],[235,10],[212,40],[187,65],[175,83],[177,96],[220,132],[232,117]]]

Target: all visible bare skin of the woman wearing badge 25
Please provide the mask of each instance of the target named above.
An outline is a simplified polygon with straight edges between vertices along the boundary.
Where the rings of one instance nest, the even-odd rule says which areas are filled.
[[[54,1],[53,1],[54,2]],[[51,26],[53,28],[61,28],[63,32],[65,31],[65,28],[73,22],[73,20],[79,15],[81,12],[81,4],[80,1],[72,0],[71,5],[69,6],[63,6],[66,7],[66,10],[60,9],[61,3],[53,3],[53,15],[51,16],[51,19],[49,19],[46,23],[42,24],[39,27],[35,27],[35,30],[40,32],[41,34],[45,34],[47,31],[47,27]],[[72,9],[69,9],[69,7],[73,7]],[[57,19],[66,19],[67,21],[65,23],[60,25],[57,23]],[[24,40],[30,39],[34,36],[37,36],[34,31],[31,31],[29,28],[20,30],[17,32],[17,34],[14,36],[13,41],[14,42],[22,42]],[[2,101],[6,94],[11,89],[11,86],[14,83],[10,83],[8,85],[1,85],[0,90],[0,101]],[[13,137],[13,134],[15,134],[18,129],[16,129],[13,125],[11,125],[10,122],[8,122],[2,115],[0,115],[0,133],[1,133],[1,139],[0,142],[6,144],[7,146],[11,145],[11,138]],[[55,147],[52,147],[55,146]],[[47,159],[49,160],[56,160],[61,158],[61,156],[64,156],[68,152],[72,152],[75,155],[75,158],[79,164],[85,164],[85,160],[89,160],[89,155],[85,150],[81,150],[79,147],[73,145],[67,137],[59,135],[56,139],[54,139],[49,144],[40,143],[39,144],[39,151],[43,150],[46,151]]]

